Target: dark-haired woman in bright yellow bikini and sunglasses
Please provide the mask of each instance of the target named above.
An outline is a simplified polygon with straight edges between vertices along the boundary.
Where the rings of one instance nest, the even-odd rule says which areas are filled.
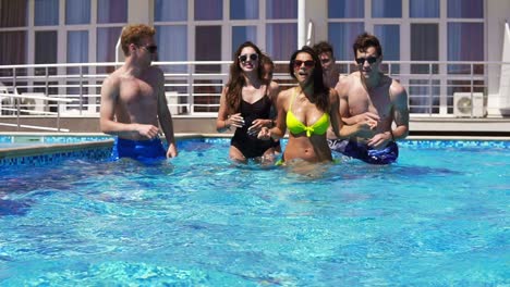
[[[263,128],[258,137],[278,139],[289,128],[289,141],[283,152],[286,162],[298,159],[313,163],[331,161],[326,132],[331,124],[332,132],[339,136],[338,95],[324,85],[320,61],[309,47],[292,54],[289,72],[299,86],[278,95],[276,126]]]

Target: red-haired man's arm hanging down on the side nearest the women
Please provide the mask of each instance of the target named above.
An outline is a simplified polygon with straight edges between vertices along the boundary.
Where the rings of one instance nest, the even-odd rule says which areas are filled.
[[[178,150],[173,134],[173,120],[168,109],[167,97],[165,95],[165,76],[161,71],[158,71],[157,89],[159,124],[168,142],[167,158],[174,158],[178,155]]]

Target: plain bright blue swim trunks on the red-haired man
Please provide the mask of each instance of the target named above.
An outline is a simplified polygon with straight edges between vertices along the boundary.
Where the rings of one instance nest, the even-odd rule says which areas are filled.
[[[113,146],[113,158],[131,158],[135,160],[166,159],[167,151],[165,150],[161,139],[159,138],[151,140],[131,140],[116,138],[116,144]]]

